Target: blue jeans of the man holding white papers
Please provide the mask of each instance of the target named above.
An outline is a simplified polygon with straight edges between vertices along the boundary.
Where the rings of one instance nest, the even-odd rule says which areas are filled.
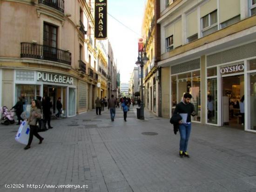
[[[181,135],[180,151],[186,152],[187,148],[188,148],[189,136],[190,136],[190,132],[191,132],[191,123],[190,124],[182,123],[179,126],[179,132]]]

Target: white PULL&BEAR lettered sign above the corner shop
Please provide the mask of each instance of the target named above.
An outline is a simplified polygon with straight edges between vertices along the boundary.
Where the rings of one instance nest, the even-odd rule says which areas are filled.
[[[51,82],[51,83],[62,83],[62,84],[74,85],[74,79],[72,77],[67,77],[64,75],[56,75],[51,73],[37,72],[37,80]]]

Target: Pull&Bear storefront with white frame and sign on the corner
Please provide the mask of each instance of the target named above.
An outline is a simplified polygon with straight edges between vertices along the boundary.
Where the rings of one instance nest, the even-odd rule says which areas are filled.
[[[58,73],[14,70],[13,103],[19,96],[23,98],[24,111],[29,114],[32,99],[47,95],[51,98],[52,113],[56,113],[56,103],[61,98],[62,116],[76,115],[76,79]]]

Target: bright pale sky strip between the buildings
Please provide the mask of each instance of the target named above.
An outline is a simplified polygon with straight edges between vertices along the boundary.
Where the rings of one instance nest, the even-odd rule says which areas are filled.
[[[138,39],[146,0],[108,0],[108,40],[111,43],[121,83],[128,83],[138,57]],[[136,33],[135,33],[136,32]]]

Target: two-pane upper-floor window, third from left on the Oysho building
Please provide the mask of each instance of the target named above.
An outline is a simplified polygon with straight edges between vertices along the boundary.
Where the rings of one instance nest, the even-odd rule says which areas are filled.
[[[217,10],[201,18],[202,37],[218,30]]]

